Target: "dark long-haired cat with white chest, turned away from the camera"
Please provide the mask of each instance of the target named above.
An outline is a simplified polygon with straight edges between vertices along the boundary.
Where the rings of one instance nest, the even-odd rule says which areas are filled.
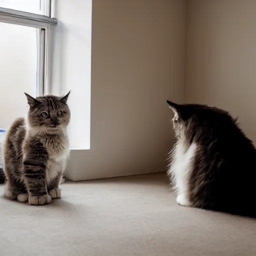
[[[168,174],[180,205],[256,217],[256,149],[227,111],[176,104]]]

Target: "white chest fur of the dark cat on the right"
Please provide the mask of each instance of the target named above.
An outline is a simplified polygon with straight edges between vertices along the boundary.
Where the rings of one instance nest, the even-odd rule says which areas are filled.
[[[187,147],[183,141],[178,141],[175,146],[169,174],[172,176],[178,194],[187,193],[188,176],[191,170],[191,160],[193,159],[195,150],[195,143],[192,143]]]

